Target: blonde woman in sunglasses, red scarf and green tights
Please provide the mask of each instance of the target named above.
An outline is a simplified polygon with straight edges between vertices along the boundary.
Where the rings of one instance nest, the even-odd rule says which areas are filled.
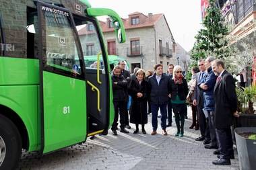
[[[185,112],[186,112],[186,97],[188,93],[187,81],[182,74],[181,66],[177,65],[173,69],[174,76],[170,83],[172,110],[175,116],[177,125],[177,134],[175,136],[183,137]]]

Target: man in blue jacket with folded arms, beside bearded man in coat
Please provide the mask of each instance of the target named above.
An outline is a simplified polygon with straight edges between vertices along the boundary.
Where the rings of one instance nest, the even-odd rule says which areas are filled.
[[[203,90],[203,112],[208,118],[208,126],[210,130],[210,144],[206,144],[205,148],[218,148],[215,130],[215,102],[214,102],[214,85],[216,84],[217,76],[212,71],[212,62],[215,60],[213,56],[209,56],[205,60],[205,67],[207,69],[206,75],[201,82],[198,83],[199,88]]]

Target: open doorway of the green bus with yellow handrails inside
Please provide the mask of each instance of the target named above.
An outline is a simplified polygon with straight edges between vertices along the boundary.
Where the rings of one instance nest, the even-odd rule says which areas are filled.
[[[77,32],[86,57],[96,60],[86,65],[86,97],[88,136],[108,130],[109,125],[109,74],[104,44],[93,17],[74,17]]]

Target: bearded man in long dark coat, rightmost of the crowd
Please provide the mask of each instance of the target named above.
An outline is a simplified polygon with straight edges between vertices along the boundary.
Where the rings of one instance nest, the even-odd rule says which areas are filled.
[[[233,141],[230,126],[233,116],[237,114],[237,97],[234,78],[225,70],[222,60],[212,62],[212,70],[218,75],[214,87],[215,123],[220,156],[213,161],[214,165],[230,165],[234,159]]]

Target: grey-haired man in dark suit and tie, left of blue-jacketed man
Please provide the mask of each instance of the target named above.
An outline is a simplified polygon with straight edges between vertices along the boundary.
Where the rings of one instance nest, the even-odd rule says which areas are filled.
[[[195,95],[193,96],[193,105],[197,105],[197,114],[198,114],[198,122],[199,128],[201,132],[201,136],[195,138],[197,141],[203,141],[203,144],[210,144],[210,131],[207,126],[205,114],[203,114],[203,91],[199,88],[198,83],[203,80],[205,76],[205,60],[200,59],[198,61],[198,67],[200,72],[197,73],[196,78],[196,88],[195,88]]]

